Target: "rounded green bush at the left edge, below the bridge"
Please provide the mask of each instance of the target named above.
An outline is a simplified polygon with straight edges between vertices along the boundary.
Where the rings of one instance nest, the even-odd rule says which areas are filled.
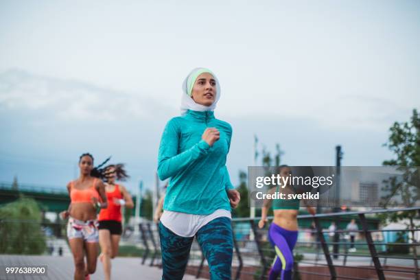
[[[21,197],[0,207],[0,252],[37,255],[45,251],[42,215],[36,201]]]

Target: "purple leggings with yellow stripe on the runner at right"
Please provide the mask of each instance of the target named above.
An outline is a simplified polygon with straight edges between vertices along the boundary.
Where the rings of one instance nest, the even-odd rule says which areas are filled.
[[[293,248],[296,244],[297,235],[298,231],[288,231],[275,223],[270,225],[268,240],[275,248],[276,257],[268,275],[268,280],[278,279],[279,275],[281,275],[281,280],[292,279]]]

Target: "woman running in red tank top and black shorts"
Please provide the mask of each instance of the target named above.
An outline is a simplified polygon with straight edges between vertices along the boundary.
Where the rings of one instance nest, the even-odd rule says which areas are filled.
[[[110,259],[118,255],[121,238],[121,206],[134,207],[132,198],[123,185],[115,184],[115,180],[128,178],[124,165],[108,165],[105,167],[107,183],[105,184],[108,208],[102,209],[99,215],[99,239],[101,246],[100,261],[104,265],[105,280],[110,279]]]

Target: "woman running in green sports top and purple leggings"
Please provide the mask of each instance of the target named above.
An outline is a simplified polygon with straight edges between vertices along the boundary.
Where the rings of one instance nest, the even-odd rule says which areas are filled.
[[[290,167],[288,165],[281,165],[279,167],[279,173],[283,178],[290,176]],[[268,194],[274,194],[275,192],[279,192],[279,186],[270,189]],[[287,196],[288,194],[295,194],[296,191],[288,183],[288,185],[281,189],[281,193]],[[303,201],[305,202],[305,200]],[[268,221],[267,213],[270,204],[271,200],[264,200],[264,205],[261,209],[261,220],[258,222],[260,229]],[[274,220],[270,225],[270,229],[268,229],[268,240],[270,240],[270,243],[275,248],[276,257],[268,275],[269,280],[278,279],[279,275],[281,275],[281,280],[292,279],[293,248],[298,237],[297,215],[299,206],[299,199],[275,199],[272,201]],[[309,206],[307,206],[307,211],[312,215],[316,213],[315,209]]]

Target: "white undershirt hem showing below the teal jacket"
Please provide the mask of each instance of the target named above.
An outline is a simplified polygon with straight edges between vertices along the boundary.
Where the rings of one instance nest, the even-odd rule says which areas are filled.
[[[220,217],[231,219],[231,211],[218,209],[209,215],[194,215],[165,210],[161,216],[161,223],[176,235],[193,237],[203,226]]]

